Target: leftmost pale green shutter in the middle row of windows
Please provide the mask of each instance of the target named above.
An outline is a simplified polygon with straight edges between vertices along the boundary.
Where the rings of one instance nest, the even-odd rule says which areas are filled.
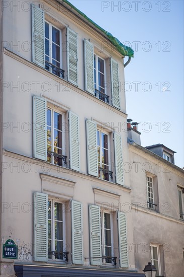
[[[33,157],[47,161],[47,101],[33,95]]]

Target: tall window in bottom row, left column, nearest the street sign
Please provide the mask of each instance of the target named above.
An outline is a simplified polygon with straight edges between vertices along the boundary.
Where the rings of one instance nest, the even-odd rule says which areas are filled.
[[[54,199],[48,200],[48,257],[52,260],[63,260],[64,245],[63,204]]]

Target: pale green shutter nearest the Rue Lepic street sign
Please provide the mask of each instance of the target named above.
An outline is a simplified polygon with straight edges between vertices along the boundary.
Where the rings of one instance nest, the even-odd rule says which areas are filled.
[[[35,261],[48,260],[48,195],[34,192],[34,255]]]

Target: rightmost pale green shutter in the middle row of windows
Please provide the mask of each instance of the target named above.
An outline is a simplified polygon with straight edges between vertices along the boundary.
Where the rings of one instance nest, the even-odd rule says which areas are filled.
[[[114,153],[115,153],[115,177],[116,183],[123,185],[123,154],[122,141],[119,133],[114,133]]]

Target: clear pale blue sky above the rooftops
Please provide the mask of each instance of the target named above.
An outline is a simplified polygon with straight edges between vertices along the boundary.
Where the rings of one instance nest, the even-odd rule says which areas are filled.
[[[141,145],[163,144],[183,167],[183,1],[70,0],[134,50],[125,68],[128,118]]]

